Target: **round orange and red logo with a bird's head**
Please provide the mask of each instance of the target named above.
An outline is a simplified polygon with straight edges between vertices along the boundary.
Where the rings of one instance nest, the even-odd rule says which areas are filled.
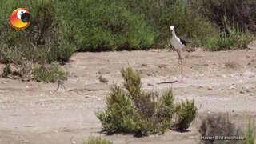
[[[30,26],[30,12],[25,8],[18,8],[10,15],[10,26],[16,30],[24,30]]]

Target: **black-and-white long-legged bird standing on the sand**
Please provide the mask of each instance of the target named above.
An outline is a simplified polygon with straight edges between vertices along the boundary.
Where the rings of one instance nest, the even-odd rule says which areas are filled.
[[[178,63],[179,63],[179,61],[181,61],[181,63],[182,63],[182,57],[181,57],[182,48],[184,48],[186,46],[186,43],[190,43],[190,42],[186,42],[186,41],[182,40],[182,38],[178,38],[175,34],[174,26],[170,26],[170,31],[173,34],[172,38],[170,39],[170,43],[174,47],[174,50],[176,50],[178,53]],[[183,70],[182,70],[182,81],[181,82],[183,82]]]

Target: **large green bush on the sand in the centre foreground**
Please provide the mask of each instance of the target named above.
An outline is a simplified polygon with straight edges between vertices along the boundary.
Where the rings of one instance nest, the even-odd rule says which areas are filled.
[[[148,134],[163,134],[170,129],[174,112],[172,90],[166,90],[159,98],[158,92],[146,92],[142,90],[141,77],[138,71],[130,67],[121,70],[124,78],[125,90],[116,84],[111,86],[111,92],[106,97],[106,109],[96,112],[96,116],[102,122],[103,131],[107,134],[123,133],[143,136]],[[194,102],[192,102],[194,104]],[[185,112],[191,112],[184,114]],[[197,108],[187,102],[178,110],[181,118],[188,121],[179,123],[182,130],[186,130],[195,118]],[[194,114],[194,115],[193,115]],[[186,123],[188,122],[188,123]]]

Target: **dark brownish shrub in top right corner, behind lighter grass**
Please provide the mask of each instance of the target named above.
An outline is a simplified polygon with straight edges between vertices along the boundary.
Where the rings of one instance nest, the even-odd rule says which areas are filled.
[[[228,26],[238,24],[242,30],[250,30],[256,34],[256,2],[254,0],[193,0],[192,6],[198,10],[202,17],[226,31],[223,23],[224,15],[227,16]],[[227,31],[226,31],[227,32]]]

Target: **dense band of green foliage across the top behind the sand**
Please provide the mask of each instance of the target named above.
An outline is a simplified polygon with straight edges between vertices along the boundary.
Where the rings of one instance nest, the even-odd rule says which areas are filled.
[[[246,48],[255,34],[256,2],[222,1],[0,0],[0,62],[45,65],[68,62],[76,51],[170,48],[171,25],[192,46]],[[18,7],[30,11],[26,30],[8,24]]]

